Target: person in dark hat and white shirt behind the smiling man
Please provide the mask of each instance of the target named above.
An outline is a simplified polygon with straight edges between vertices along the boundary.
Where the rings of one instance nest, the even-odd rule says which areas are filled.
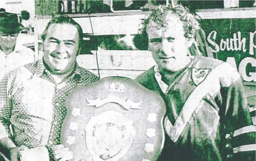
[[[33,50],[17,44],[22,29],[17,14],[0,12],[0,79],[14,68],[35,61]]]

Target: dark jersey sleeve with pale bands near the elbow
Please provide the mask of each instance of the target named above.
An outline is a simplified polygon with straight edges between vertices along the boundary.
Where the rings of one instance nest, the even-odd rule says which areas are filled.
[[[241,79],[222,90],[222,103],[226,106],[225,125],[231,135],[232,161],[255,160],[255,125]]]

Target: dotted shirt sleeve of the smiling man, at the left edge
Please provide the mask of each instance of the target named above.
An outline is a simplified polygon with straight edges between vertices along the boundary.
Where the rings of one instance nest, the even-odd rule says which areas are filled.
[[[0,140],[10,137],[10,116],[12,105],[8,96],[10,74],[7,73],[0,81]]]

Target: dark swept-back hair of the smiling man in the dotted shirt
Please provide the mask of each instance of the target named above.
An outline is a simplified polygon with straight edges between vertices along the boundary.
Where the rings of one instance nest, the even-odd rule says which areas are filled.
[[[48,28],[51,26],[51,24],[53,23],[69,23],[71,25],[74,25],[77,28],[78,31],[78,49],[80,49],[82,47],[82,43],[83,43],[83,30],[81,28],[81,26],[74,21],[70,16],[66,16],[66,15],[62,15],[62,16],[58,16],[58,17],[54,17],[53,19],[51,19],[51,21],[48,22],[45,30],[43,31],[43,34],[41,35],[42,40],[44,41],[47,35],[47,30]],[[60,31],[61,32],[61,31]],[[65,33],[63,33],[65,34]],[[79,54],[79,53],[77,53]]]

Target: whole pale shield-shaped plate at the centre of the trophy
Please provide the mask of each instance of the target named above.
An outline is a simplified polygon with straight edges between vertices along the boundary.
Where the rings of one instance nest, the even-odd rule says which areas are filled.
[[[133,121],[116,111],[91,117],[85,131],[88,151],[94,161],[118,161],[132,145],[136,134]]]

